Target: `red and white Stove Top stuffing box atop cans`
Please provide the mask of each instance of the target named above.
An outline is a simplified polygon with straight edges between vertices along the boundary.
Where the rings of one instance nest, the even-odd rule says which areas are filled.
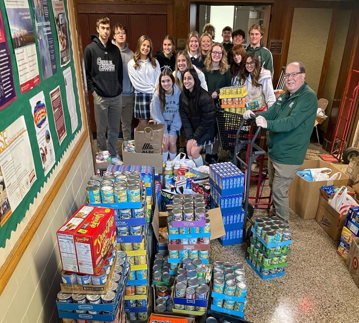
[[[116,245],[113,209],[82,205],[57,230],[57,242],[65,271],[96,275]]]

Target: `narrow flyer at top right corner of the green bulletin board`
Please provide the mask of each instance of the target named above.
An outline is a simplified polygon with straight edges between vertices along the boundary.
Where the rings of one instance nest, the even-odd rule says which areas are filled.
[[[67,32],[67,18],[63,0],[52,0],[52,10],[55,16],[57,37],[59,38],[61,67],[67,65],[70,60],[70,42]]]

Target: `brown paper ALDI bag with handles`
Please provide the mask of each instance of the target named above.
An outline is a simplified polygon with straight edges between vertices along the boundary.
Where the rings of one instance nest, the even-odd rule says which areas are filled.
[[[162,152],[164,124],[139,124],[135,129],[136,153]]]

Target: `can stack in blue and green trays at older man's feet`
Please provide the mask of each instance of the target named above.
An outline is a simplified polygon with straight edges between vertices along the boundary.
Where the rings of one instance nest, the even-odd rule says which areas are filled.
[[[260,261],[264,266],[278,265],[272,269],[263,269],[251,255],[248,256],[248,260],[256,266],[257,270],[261,272],[263,276],[274,275],[284,270],[284,266],[281,263],[287,261],[287,253],[290,248],[289,246],[273,246],[267,247],[261,243],[257,236],[264,239],[267,244],[279,243],[283,241],[290,241],[292,238],[292,231],[287,225],[283,224],[278,217],[271,218],[258,218],[255,220],[254,229],[257,235],[253,235],[250,251],[256,256],[257,260]],[[264,255],[267,253],[269,258]]]

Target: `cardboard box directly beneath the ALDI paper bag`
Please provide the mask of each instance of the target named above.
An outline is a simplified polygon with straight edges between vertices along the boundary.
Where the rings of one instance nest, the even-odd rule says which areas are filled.
[[[163,173],[163,154],[145,154],[124,151],[122,144],[122,160],[124,165],[153,166],[156,174]]]

